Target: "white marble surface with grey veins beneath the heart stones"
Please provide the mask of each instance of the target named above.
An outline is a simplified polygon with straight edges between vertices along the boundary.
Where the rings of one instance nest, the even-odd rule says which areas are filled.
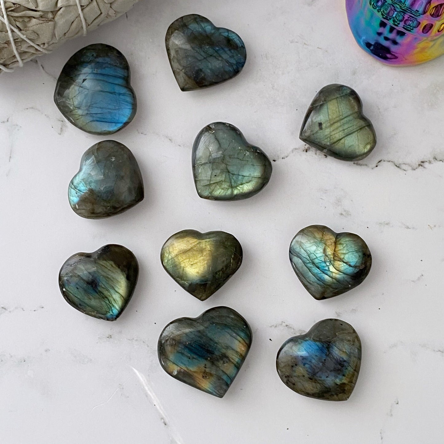
[[[168,25],[197,12],[237,31],[241,75],[182,93],[163,44]],[[119,48],[139,110],[115,135],[143,171],[146,198],[101,221],[79,218],[67,186],[101,138],[66,123],[55,78],[86,44]],[[343,1],[143,0],[127,17],[0,76],[0,424],[3,444],[438,444],[444,422],[444,58],[385,67],[349,32]],[[355,88],[378,145],[357,164],[298,139],[311,99],[328,83]],[[207,123],[239,127],[273,163],[270,184],[243,202],[198,198],[191,145]],[[312,223],[360,234],[373,254],[357,289],[315,301],[294,275],[288,247]],[[244,248],[238,273],[200,302],[163,271],[159,252],[186,228],[225,230]],[[57,274],[77,251],[121,243],[140,279],[118,321],[63,300]],[[253,346],[223,399],[160,368],[164,325],[228,305],[250,322]],[[281,343],[325,317],[361,336],[350,400],[299,396],[279,380]]]

